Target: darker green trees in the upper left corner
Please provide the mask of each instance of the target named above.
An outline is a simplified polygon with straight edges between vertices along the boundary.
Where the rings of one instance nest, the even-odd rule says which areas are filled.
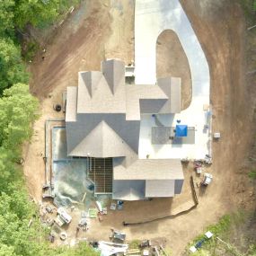
[[[0,95],[16,83],[28,83],[29,75],[22,61],[31,60],[39,45],[28,40],[23,55],[16,34],[22,35],[27,25],[43,27],[52,24],[70,4],[78,0],[2,0],[0,1]],[[27,36],[26,36],[27,37]]]

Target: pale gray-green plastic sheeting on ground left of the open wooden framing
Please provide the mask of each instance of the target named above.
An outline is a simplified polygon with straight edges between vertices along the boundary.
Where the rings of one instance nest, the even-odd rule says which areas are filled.
[[[66,129],[52,130],[52,173],[55,192],[55,204],[60,207],[76,204],[77,207],[90,205],[93,183],[87,179],[87,161],[85,158],[71,158],[66,155]],[[86,197],[84,202],[84,193]]]

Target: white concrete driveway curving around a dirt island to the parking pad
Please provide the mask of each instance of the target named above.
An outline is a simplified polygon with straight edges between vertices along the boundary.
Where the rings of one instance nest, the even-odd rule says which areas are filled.
[[[188,109],[175,115],[159,115],[165,126],[175,126],[176,120],[195,127],[194,145],[151,145],[154,119],[144,116],[141,122],[139,157],[202,159],[211,154],[210,130],[205,130],[209,104],[210,77],[207,59],[190,21],[178,0],[136,0],[135,11],[135,75],[136,84],[156,83],[156,40],[164,30],[175,31],[188,57],[192,80],[192,101]],[[182,81],[181,81],[182,84]]]

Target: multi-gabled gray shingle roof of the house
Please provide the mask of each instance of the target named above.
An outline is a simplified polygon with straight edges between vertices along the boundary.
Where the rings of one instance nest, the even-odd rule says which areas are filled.
[[[124,75],[123,62],[107,60],[102,72],[79,72],[78,87],[67,88],[67,153],[113,157],[113,198],[173,196],[182,188],[181,161],[138,159],[137,153],[140,114],[179,112],[181,79],[128,85]]]

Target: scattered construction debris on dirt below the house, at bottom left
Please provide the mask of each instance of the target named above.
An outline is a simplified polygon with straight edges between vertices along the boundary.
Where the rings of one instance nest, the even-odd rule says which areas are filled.
[[[81,232],[88,232],[90,225],[92,225],[93,219],[99,221],[103,220],[103,216],[108,214],[108,207],[104,207],[104,202],[99,199],[93,202],[91,207],[87,210],[79,210],[75,206],[72,207],[55,207],[49,203],[42,203],[40,205],[40,218],[44,225],[50,227],[49,241],[51,243],[63,243],[66,245],[75,244],[79,241],[87,241],[83,235],[79,235]],[[124,207],[123,201],[115,201],[110,203],[110,210],[122,210]],[[75,214],[76,212],[76,214]],[[78,214],[78,215],[77,215]],[[81,216],[79,216],[81,214]],[[78,216],[78,219],[77,219]],[[68,237],[66,226],[70,225],[72,221],[77,221],[77,224],[72,225],[74,227],[74,237]],[[58,239],[58,240],[57,240]],[[164,251],[163,245],[152,244],[150,240],[142,241],[137,248],[129,248],[129,244],[126,243],[127,234],[123,231],[110,229],[109,241],[96,241],[90,242],[95,251],[101,252],[101,256],[110,255],[144,255],[144,256],[168,256]]]

